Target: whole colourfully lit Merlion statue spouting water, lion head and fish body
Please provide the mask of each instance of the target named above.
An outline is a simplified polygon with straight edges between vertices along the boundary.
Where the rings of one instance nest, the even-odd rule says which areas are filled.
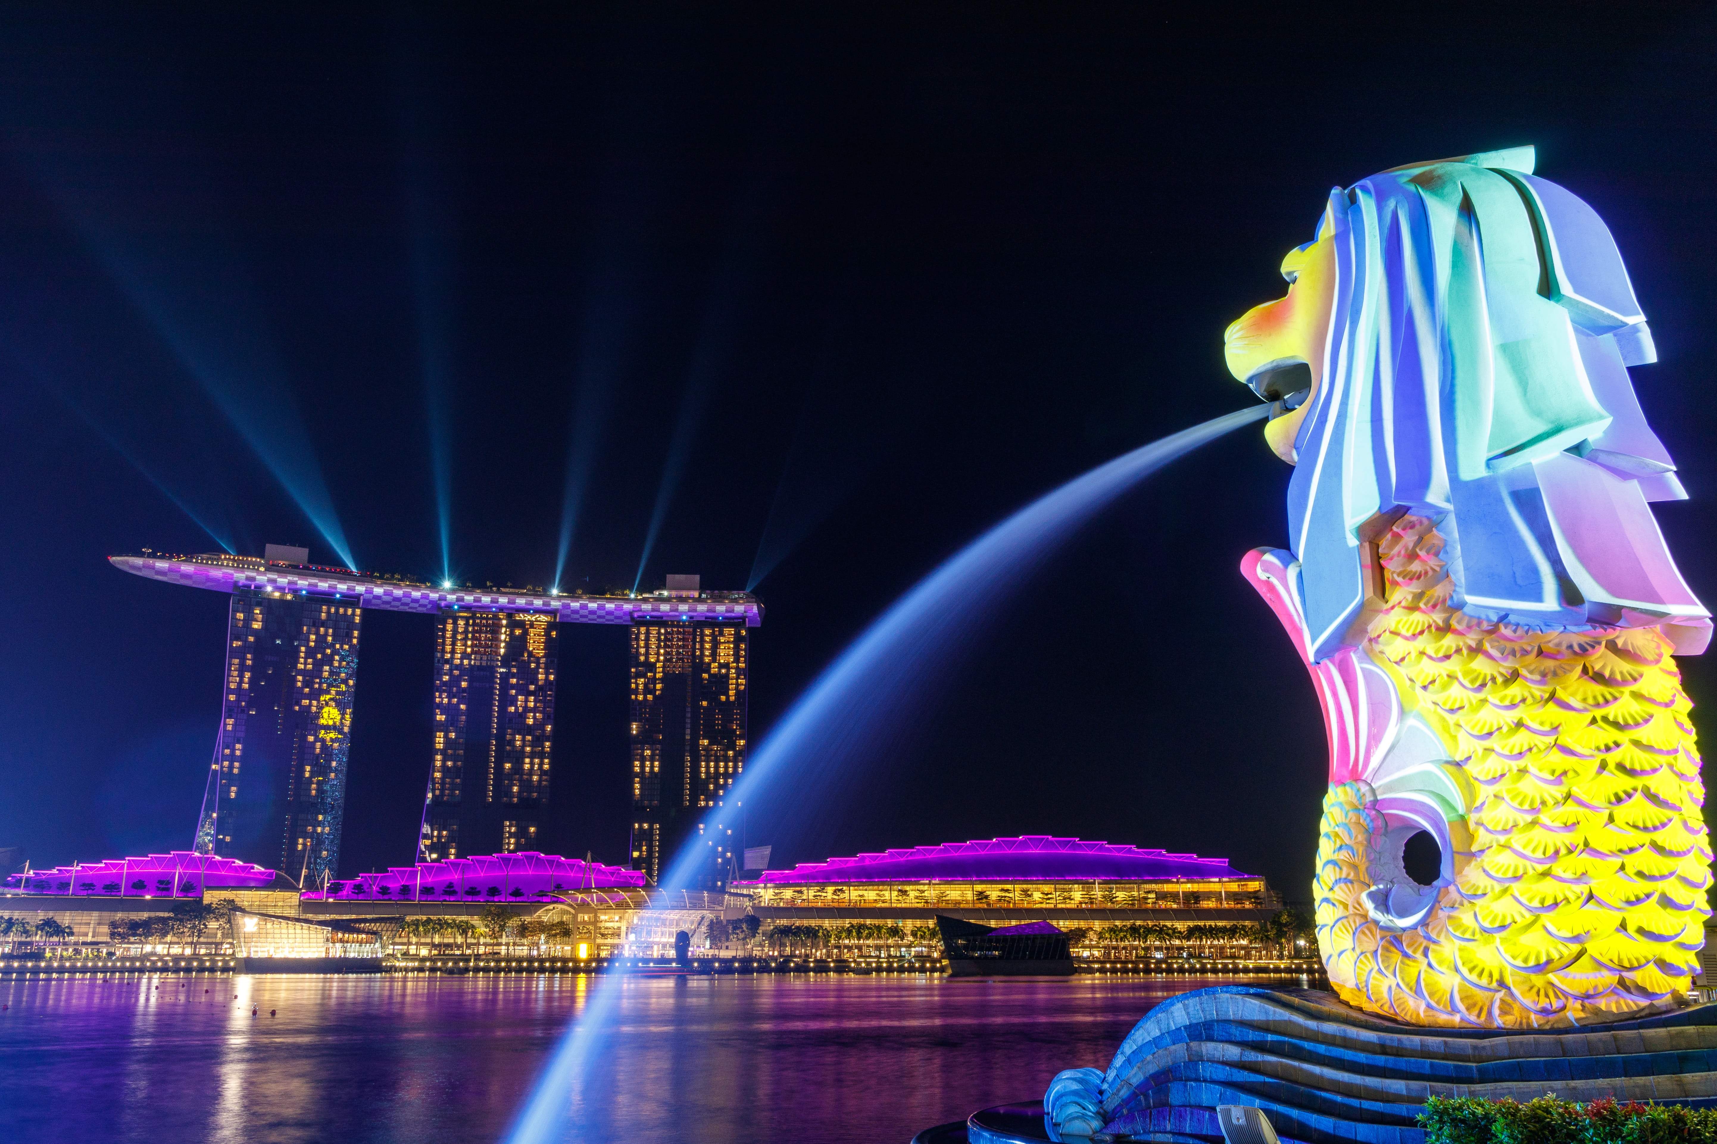
[[[1676,1007],[1710,914],[1672,655],[1712,626],[1648,508],[1686,496],[1628,376],[1652,336],[1597,213],[1532,170],[1331,192],[1288,297],[1226,336],[1295,465],[1293,551],[1243,571],[1329,731],[1319,952],[1343,1000],[1418,1026]],[[1430,885],[1403,866],[1422,832]]]

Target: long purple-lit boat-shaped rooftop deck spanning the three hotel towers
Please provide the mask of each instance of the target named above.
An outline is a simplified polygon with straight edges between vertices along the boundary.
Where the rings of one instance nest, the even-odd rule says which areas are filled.
[[[319,599],[352,600],[388,612],[428,612],[445,607],[472,612],[549,612],[563,624],[630,624],[634,621],[728,621],[755,628],[762,604],[745,592],[695,595],[555,595],[529,588],[438,588],[393,576],[373,576],[350,568],[282,564],[254,556],[110,556],[108,563],[134,576],[211,592],[258,588]]]

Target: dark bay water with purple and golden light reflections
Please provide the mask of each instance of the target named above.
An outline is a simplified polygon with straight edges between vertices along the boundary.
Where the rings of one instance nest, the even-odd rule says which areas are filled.
[[[907,1144],[1039,1098],[1061,1069],[1107,1065],[1166,996],[1238,981],[630,979],[596,1075],[568,1098],[568,1139]],[[5,979],[0,1141],[489,1144],[589,988],[567,976]]]

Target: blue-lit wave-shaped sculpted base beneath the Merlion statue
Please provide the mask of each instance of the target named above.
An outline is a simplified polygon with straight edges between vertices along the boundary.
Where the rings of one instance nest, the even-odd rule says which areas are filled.
[[[1717,1106],[1717,1005],[1516,1033],[1422,1029],[1322,990],[1195,990],[1152,1009],[1107,1070],[1059,1074],[1042,1130],[1008,1106],[937,1139],[1221,1144],[1216,1106],[1252,1105],[1284,1142],[1423,1144],[1415,1118],[1429,1096],[1545,1093]]]

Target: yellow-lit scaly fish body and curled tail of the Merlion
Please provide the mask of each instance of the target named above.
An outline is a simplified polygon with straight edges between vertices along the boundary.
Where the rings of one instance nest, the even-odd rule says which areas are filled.
[[[1449,605],[1422,516],[1377,542],[1362,653],[1442,739],[1470,804],[1453,885],[1415,928],[1365,892],[1384,834],[1363,780],[1331,787],[1317,938],[1350,1003],[1422,1026],[1557,1027],[1676,1007],[1710,916],[1691,703],[1655,628],[1533,631]]]

